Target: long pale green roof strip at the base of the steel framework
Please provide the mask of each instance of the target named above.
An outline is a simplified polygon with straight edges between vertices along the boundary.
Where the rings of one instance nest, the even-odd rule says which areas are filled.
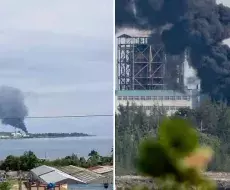
[[[117,90],[116,96],[183,96],[174,90]],[[189,93],[187,93],[189,95]]]

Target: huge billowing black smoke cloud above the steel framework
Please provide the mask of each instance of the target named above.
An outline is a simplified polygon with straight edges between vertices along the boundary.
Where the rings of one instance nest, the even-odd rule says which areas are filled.
[[[116,26],[162,28],[169,54],[186,49],[201,79],[202,90],[213,99],[230,102],[230,8],[215,0],[116,0]],[[132,6],[131,6],[132,5]],[[129,7],[135,7],[135,14]]]

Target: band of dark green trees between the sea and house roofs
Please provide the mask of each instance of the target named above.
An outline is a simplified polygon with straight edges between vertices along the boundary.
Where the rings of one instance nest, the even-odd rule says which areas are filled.
[[[79,167],[92,167],[97,165],[112,165],[113,156],[100,156],[95,150],[89,153],[89,158],[78,157],[76,154],[71,156],[66,156],[65,158],[60,158],[56,160],[43,160],[37,158],[37,156],[31,152],[25,152],[22,156],[7,156],[7,158],[1,162],[0,169],[5,171],[29,171],[40,165],[48,166],[68,166],[74,165]]]

